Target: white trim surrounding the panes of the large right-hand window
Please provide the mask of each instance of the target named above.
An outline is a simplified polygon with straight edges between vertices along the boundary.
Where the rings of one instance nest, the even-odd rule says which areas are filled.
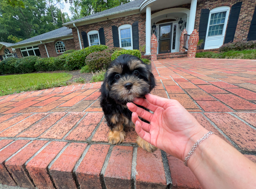
[[[209,36],[208,37],[211,15],[214,14],[214,13],[223,12],[223,11],[227,11],[227,13],[226,13],[226,18],[225,18],[225,23],[224,23],[224,26],[223,26],[222,35],[214,35],[214,36]],[[230,7],[229,6],[219,6],[219,7],[216,7],[214,9],[210,10],[208,24],[207,24],[207,31],[206,31],[205,42],[206,42],[206,40],[209,40],[209,39],[211,40],[211,39],[214,39],[214,38],[222,38],[221,39],[222,40],[221,45],[223,44],[224,36],[225,36],[225,33],[226,33],[226,27],[227,27],[227,24],[228,24],[229,11],[230,11]],[[219,48],[219,47],[216,47],[216,48]],[[205,47],[204,49],[212,49],[212,47],[209,47],[209,48]]]

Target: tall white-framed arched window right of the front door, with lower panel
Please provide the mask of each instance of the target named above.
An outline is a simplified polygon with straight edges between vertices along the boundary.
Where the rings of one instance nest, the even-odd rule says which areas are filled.
[[[204,49],[216,49],[223,45],[229,11],[229,6],[210,10]]]

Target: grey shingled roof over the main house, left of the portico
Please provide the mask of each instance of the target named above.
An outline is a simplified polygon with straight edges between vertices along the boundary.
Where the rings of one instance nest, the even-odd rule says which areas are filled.
[[[132,9],[138,9],[139,10],[139,5],[143,2],[144,0],[135,0],[135,1],[131,1],[129,3],[125,3],[119,6],[116,6],[114,8],[111,9],[107,9],[107,10],[103,10],[101,12],[97,12],[93,15],[89,15],[89,16],[85,16],[83,18],[79,18],[67,23],[64,23],[62,25],[69,25],[72,23],[76,23],[76,22],[80,22],[80,21],[84,21],[84,20],[89,20],[89,19],[94,19],[95,17],[102,17],[102,16],[107,16],[107,15],[112,15],[112,14],[116,14],[120,11],[130,11]]]

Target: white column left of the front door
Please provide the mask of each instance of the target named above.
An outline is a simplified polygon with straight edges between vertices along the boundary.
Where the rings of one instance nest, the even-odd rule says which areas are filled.
[[[151,55],[150,40],[151,40],[151,7],[148,6],[146,9],[146,54],[145,55]]]

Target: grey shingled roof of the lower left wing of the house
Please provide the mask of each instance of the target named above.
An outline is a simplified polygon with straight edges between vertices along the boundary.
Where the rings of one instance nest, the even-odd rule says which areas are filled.
[[[72,29],[68,29],[67,27],[62,27],[62,28],[58,28],[56,30],[49,31],[49,32],[41,34],[41,35],[37,35],[35,37],[31,37],[29,39],[20,41],[18,43],[14,43],[14,44],[10,45],[10,47],[16,46],[16,45],[21,45],[21,44],[26,44],[26,43],[31,43],[31,42],[44,41],[44,40],[58,38],[58,37],[66,36],[66,35],[72,35]]]

